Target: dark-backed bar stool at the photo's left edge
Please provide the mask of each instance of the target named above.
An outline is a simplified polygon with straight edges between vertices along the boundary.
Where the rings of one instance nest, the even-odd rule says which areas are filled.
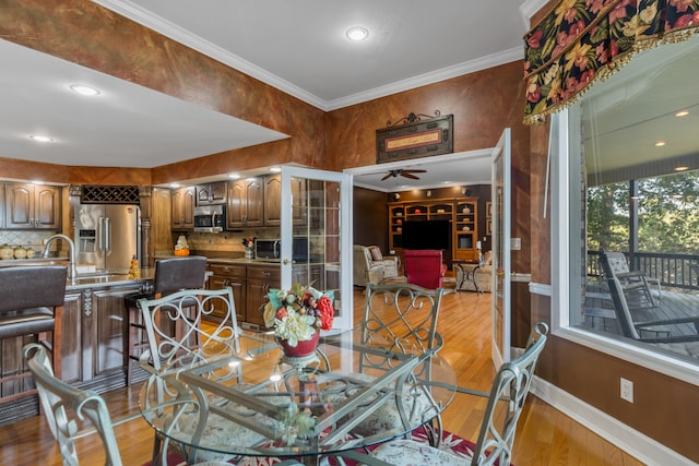
[[[24,265],[0,267],[0,339],[37,335],[39,343],[51,350],[56,377],[61,375],[61,316],[66,299],[68,267],[63,265]],[[47,334],[51,333],[51,340]],[[17,399],[36,393],[35,390],[21,392],[21,381],[29,378],[29,371],[21,371],[21,348],[17,344],[16,367],[11,371],[3,367],[5,375],[0,374],[0,384],[15,382],[15,390],[0,395],[0,403]],[[4,348],[4,346],[3,346]],[[5,361],[9,361],[5,358]]]

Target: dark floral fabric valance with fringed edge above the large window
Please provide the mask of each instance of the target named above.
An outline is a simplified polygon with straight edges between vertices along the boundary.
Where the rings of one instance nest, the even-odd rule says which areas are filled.
[[[561,0],[524,36],[524,123],[572,104],[635,52],[699,29],[699,0]]]

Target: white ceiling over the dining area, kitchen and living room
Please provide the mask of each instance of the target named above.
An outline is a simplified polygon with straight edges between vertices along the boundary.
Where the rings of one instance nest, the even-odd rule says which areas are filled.
[[[323,110],[521,59],[529,14],[520,10],[543,3],[94,1]],[[368,28],[369,38],[350,43],[351,26]],[[4,40],[0,57],[0,157],[147,168],[286,138]],[[68,89],[73,83],[102,94],[74,95]],[[55,142],[28,140],[37,133]],[[443,168],[451,178],[462,172],[462,179],[450,180],[454,183],[489,179],[475,167]],[[418,176],[420,186],[449,179],[436,167]],[[365,177],[367,184],[374,182]]]

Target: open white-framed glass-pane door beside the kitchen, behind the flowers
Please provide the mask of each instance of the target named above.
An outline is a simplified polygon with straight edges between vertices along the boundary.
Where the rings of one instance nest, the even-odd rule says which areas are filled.
[[[334,328],[354,325],[351,213],[352,175],[282,167],[282,288],[334,291]]]

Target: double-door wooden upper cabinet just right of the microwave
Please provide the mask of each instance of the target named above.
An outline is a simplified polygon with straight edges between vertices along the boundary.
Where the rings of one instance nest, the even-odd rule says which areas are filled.
[[[226,227],[229,229],[264,225],[264,182],[260,177],[228,183]]]

